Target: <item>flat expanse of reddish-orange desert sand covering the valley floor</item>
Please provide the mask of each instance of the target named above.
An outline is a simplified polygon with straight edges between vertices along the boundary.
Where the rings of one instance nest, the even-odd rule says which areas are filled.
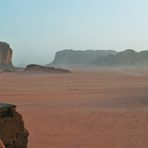
[[[148,76],[119,71],[0,74],[28,148],[148,148]]]

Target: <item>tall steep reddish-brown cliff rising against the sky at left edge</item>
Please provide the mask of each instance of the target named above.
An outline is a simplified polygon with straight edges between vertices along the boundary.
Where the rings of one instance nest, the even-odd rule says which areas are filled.
[[[0,68],[12,68],[12,49],[9,44],[0,42]]]

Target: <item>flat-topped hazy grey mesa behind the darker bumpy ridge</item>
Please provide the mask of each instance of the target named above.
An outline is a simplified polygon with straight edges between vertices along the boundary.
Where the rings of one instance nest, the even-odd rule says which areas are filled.
[[[99,56],[106,57],[114,55],[116,51],[113,50],[62,50],[55,55],[54,61],[50,64],[52,66],[84,66],[89,65],[90,62],[96,60]]]

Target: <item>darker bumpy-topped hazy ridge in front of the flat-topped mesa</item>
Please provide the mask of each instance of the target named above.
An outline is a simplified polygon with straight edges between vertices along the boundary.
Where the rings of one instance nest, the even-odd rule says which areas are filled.
[[[136,52],[131,49],[118,52],[117,54],[98,56],[91,65],[96,66],[146,66],[148,64],[148,50]]]

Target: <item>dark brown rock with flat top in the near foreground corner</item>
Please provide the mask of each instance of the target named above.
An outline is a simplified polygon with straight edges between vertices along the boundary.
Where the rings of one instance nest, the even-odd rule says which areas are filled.
[[[6,148],[27,148],[28,131],[16,106],[0,103],[0,139]]]

